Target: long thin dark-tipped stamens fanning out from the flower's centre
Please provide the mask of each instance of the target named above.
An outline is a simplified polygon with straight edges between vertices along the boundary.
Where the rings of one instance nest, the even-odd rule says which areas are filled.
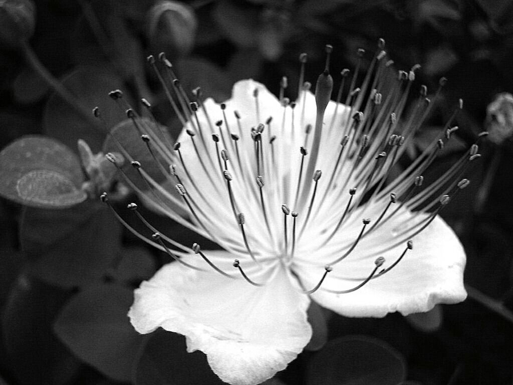
[[[350,293],[370,280],[382,277],[412,249],[410,239],[429,226],[458,191],[468,185],[465,174],[471,162],[480,156],[478,145],[473,144],[442,176],[427,188],[421,188],[425,170],[458,129],[452,126],[452,122],[462,108],[460,102],[439,137],[400,177],[390,180],[391,172],[405,150],[404,144],[413,140],[433,105],[427,99],[427,88],[421,86],[418,99],[410,111],[405,112],[418,66],[408,72],[393,71],[392,61],[386,59],[384,42],[380,40],[363,83],[357,87],[365,54],[359,50],[359,62],[352,78],[349,80],[348,69],[341,71],[337,105],[330,112],[332,118],[327,121],[325,111],[333,89],[333,79],[329,74],[331,50],[331,46],[326,46],[326,67],[316,85],[317,113],[314,122],[306,119],[309,112],[306,101],[311,88],[309,82],[304,82],[306,54],[300,56],[297,102],[290,102],[285,97],[287,79],[280,82],[281,117],[263,116],[265,106],[259,99],[259,88],[255,88],[252,93],[254,116],[246,116],[245,111],[238,110],[231,110],[233,115],[228,115],[230,106],[223,103],[219,108],[219,119],[215,122],[209,115],[213,113],[212,109],[207,108],[202,99],[201,89],[193,90],[194,101],[191,102],[164,54],[159,56],[163,71],[159,70],[153,56],[148,57],[174,113],[185,128],[182,142],[174,144],[162,139],[167,136],[160,131],[161,126],[151,114],[147,100],[142,100],[142,117],[128,105],[121,91],[110,93],[125,110],[127,118],[132,120],[154,164],[165,180],[174,186],[176,194],[150,176],[145,165],[133,159],[115,135],[112,138],[121,154],[131,162],[146,188],[139,187],[140,184],[127,176],[115,155],[108,153],[107,159],[119,168],[126,183],[137,194],[159,207],[171,219],[213,240],[236,256],[233,267],[238,269],[238,273],[229,273],[215,264],[202,252],[198,243],[187,247],[165,236],[144,218],[135,203],[130,203],[128,209],[148,228],[148,236],[137,232],[115,211],[107,194],[102,195],[102,200],[109,204],[114,215],[130,232],[161,249],[178,263],[202,273],[215,272],[229,279],[242,277],[254,286],[262,286],[271,279],[276,268],[284,267],[290,277],[297,278],[305,294],[320,288],[336,294]],[[444,83],[445,79],[442,79],[435,98]],[[341,104],[344,94],[345,105]],[[97,108],[94,115],[100,118]],[[338,117],[342,117],[342,121],[338,121]],[[274,122],[281,122],[281,127],[276,127]],[[290,137],[284,136],[284,131]],[[338,151],[329,156],[323,154],[326,141],[337,141]],[[289,149],[289,142],[299,144],[299,152]],[[280,151],[286,151],[287,156]],[[325,169],[318,169],[318,160],[326,158],[329,161],[322,164]],[[185,210],[189,217],[177,214],[176,207]],[[373,218],[365,216],[369,211]],[[212,213],[219,214],[219,218]],[[321,287],[328,273],[350,257],[365,238],[383,230],[383,226],[390,225],[391,219],[396,220],[399,215],[404,216],[404,221],[400,226],[394,223],[396,234],[393,240],[378,253],[374,251],[365,255],[374,260],[367,277],[352,278],[358,279],[359,283],[343,290]],[[346,233],[351,233],[348,228],[357,223],[357,216],[361,216],[362,227],[355,233],[356,237],[348,239]],[[220,227],[225,231],[217,231]],[[308,243],[312,242],[312,237],[316,238],[315,244],[322,245],[330,255],[337,257],[327,264],[308,258]],[[383,267],[385,259],[382,254],[401,244],[405,244],[402,254]],[[199,255],[205,264],[183,260],[194,254]],[[310,289],[304,287],[301,277],[294,272],[297,264],[324,268],[317,285]]]

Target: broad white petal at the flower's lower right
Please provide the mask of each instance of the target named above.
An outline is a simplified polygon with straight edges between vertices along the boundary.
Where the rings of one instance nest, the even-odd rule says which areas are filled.
[[[386,232],[381,234],[383,243]],[[395,247],[387,253],[390,266],[404,251],[405,245]],[[392,256],[395,256],[393,258]],[[364,255],[347,257],[336,265],[329,279],[322,287],[332,290],[346,290],[358,285],[359,281],[344,279],[337,270],[364,264],[368,274],[373,265]],[[381,277],[370,280],[359,290],[348,294],[333,294],[321,288],[311,297],[321,305],[348,317],[383,317],[387,313],[400,312],[403,315],[426,312],[437,303],[457,303],[466,298],[463,286],[465,252],[452,229],[437,217],[422,233],[413,238],[413,249],[398,265]],[[362,271],[362,266],[358,266]],[[347,272],[347,271],[346,271]],[[299,272],[308,282],[319,280],[318,269],[302,267]],[[346,277],[351,276],[347,272]],[[364,276],[362,276],[364,278]]]

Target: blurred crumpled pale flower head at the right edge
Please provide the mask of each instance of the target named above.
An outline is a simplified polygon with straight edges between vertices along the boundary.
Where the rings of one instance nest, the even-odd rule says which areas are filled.
[[[499,93],[486,109],[488,138],[495,144],[502,144],[513,134],[513,95]]]

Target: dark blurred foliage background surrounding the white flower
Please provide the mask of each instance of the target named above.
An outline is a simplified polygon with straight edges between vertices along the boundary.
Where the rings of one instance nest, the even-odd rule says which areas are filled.
[[[513,2],[0,0],[0,148],[40,135],[17,143],[43,149],[40,161],[52,172],[42,180],[66,174],[75,193],[70,201],[48,196],[24,206],[9,190],[25,167],[23,146],[0,155],[0,384],[220,383],[202,353],[185,352],[183,337],[137,335],[126,317],[133,288],[169,261],[96,198],[109,189],[119,207],[136,199],[96,156],[108,149],[106,132],[126,119],[108,92],[122,89],[139,110],[135,101],[146,98],[176,137],[181,126],[150,54],[165,52],[189,93],[201,86],[204,97],[221,102],[235,81],[253,78],[278,94],[287,76],[285,95],[294,100],[301,53],[308,55],[305,80],[314,83],[331,44],[338,87],[340,71],[359,64],[359,48],[366,50],[363,79],[379,38],[397,69],[420,64],[416,89],[425,84],[428,97],[448,79],[403,163],[440,132],[460,98],[459,130],[433,175],[489,131],[470,186],[443,213],[467,252],[469,298],[384,319],[310,309],[315,340],[267,383],[513,383]],[[45,149],[59,156],[47,158]],[[172,221],[145,215],[191,242]]]

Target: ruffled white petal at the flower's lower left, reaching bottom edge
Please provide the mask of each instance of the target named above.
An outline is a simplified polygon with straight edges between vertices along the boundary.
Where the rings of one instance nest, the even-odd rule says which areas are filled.
[[[220,256],[233,260],[221,252],[213,258]],[[171,263],[134,294],[129,317],[137,331],[149,333],[161,326],[185,335],[188,351],[203,351],[214,373],[231,384],[272,377],[311,337],[306,317],[310,301],[283,271],[266,286],[255,287],[243,279]]]

